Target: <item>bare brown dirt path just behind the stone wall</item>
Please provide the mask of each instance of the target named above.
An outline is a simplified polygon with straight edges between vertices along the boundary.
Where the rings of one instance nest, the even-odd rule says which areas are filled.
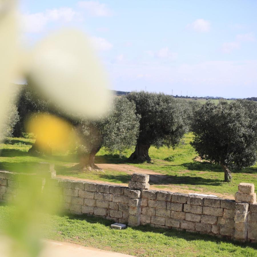
[[[154,190],[165,190],[165,191],[170,191],[170,192],[180,192],[180,193],[197,193],[197,194],[213,194],[219,197],[223,198],[228,198],[228,199],[234,199],[234,195],[232,194],[226,194],[226,193],[216,193],[212,191],[206,191],[204,189],[199,188],[199,190],[194,191],[190,190],[188,186],[184,186],[183,188],[180,185],[174,185],[172,184],[172,179],[170,176],[164,175],[159,172],[155,172],[152,170],[146,170],[146,169],[141,169],[132,165],[128,164],[109,164],[109,163],[102,163],[102,164],[97,164],[100,168],[103,170],[117,170],[117,171],[123,171],[126,172],[127,174],[132,174],[134,172],[137,173],[144,173],[144,174],[149,174],[150,175],[150,189]],[[73,179],[73,180],[84,180],[84,181],[90,181],[90,182],[96,182],[96,183],[105,183],[104,181],[101,180],[90,180],[90,179],[81,179],[81,178],[76,178],[76,177],[71,177],[71,176],[58,176],[59,178],[67,178],[67,179]],[[108,184],[116,184],[116,183],[110,183],[106,182]],[[123,186],[128,186],[126,183],[119,183],[120,185]],[[192,187],[192,186],[190,186]],[[160,189],[161,188],[161,189]]]

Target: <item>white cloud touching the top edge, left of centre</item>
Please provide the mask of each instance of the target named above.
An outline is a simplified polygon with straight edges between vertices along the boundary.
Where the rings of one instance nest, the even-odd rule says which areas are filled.
[[[111,16],[111,11],[106,4],[101,4],[95,1],[80,1],[78,6],[85,9],[91,16]]]

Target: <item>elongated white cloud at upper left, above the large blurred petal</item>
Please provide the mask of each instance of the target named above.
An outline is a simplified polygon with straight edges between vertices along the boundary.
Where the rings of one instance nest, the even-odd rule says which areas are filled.
[[[40,13],[24,14],[21,16],[21,27],[28,33],[39,33],[43,31],[47,23],[52,21],[70,22],[76,12],[72,8],[61,7],[49,9]]]

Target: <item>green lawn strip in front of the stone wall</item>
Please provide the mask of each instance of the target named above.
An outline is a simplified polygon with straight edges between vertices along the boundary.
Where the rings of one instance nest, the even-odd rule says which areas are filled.
[[[14,207],[0,206],[0,227],[14,211]],[[92,216],[46,215],[42,228],[49,239],[136,256],[257,256],[256,244],[150,226],[115,230],[110,228],[112,223]]]

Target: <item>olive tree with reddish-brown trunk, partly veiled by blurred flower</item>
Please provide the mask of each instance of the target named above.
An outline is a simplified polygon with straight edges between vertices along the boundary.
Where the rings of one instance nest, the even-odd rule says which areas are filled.
[[[115,97],[109,114],[98,121],[80,119],[76,125],[79,132],[79,169],[101,170],[95,165],[95,155],[105,147],[110,152],[131,148],[136,143],[139,128],[139,115],[136,107],[125,97]]]

